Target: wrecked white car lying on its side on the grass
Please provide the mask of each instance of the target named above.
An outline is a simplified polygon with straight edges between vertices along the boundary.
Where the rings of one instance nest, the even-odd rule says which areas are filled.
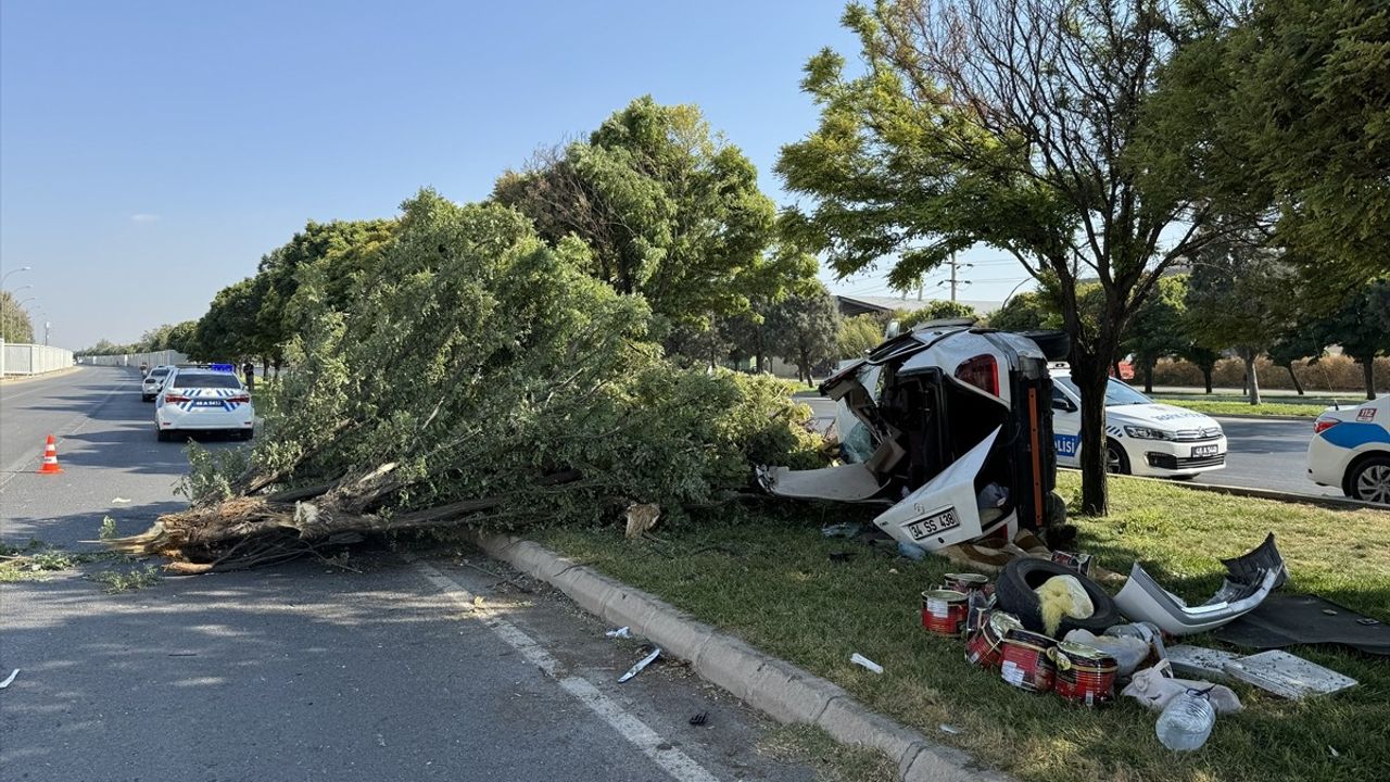
[[[874,523],[902,543],[944,548],[1061,520],[1052,493],[1052,380],[1061,333],[1013,334],[933,321],[830,377],[844,463],[762,468],[778,497],[884,505]]]

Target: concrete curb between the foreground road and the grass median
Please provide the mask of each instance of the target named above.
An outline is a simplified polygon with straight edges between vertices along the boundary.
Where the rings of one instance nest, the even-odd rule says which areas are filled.
[[[696,673],[778,722],[821,728],[837,742],[881,750],[902,782],[1013,782],[963,750],[931,742],[870,711],[820,676],[717,632],[655,596],[599,575],[555,551],[512,536],[468,530],[467,538],[493,559],[563,591],[581,608],[691,664]]]

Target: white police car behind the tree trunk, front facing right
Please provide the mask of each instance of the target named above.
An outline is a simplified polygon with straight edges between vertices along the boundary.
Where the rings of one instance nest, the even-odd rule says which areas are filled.
[[[1052,373],[1056,461],[1081,465],[1081,392],[1065,363]],[[1155,402],[1109,378],[1105,388],[1105,465],[1112,473],[1191,477],[1226,466],[1226,434],[1213,419]]]

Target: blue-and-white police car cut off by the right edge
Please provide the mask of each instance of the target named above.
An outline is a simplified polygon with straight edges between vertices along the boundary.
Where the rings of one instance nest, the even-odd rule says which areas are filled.
[[[1390,397],[1323,410],[1308,442],[1308,477],[1351,498],[1390,505]]]

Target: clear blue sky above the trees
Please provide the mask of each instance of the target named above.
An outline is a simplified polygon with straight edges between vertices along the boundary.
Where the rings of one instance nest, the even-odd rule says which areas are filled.
[[[307,220],[389,216],[424,185],[484,198],[645,93],[699,104],[785,203],[771,164],[816,121],[801,68],[821,46],[858,51],[841,10],[6,0],[0,267],[33,267],[6,285],[33,285],[19,296],[54,344],[135,340],[200,316]],[[1023,278],[970,255],[962,298]],[[874,274],[831,288],[887,292]]]

